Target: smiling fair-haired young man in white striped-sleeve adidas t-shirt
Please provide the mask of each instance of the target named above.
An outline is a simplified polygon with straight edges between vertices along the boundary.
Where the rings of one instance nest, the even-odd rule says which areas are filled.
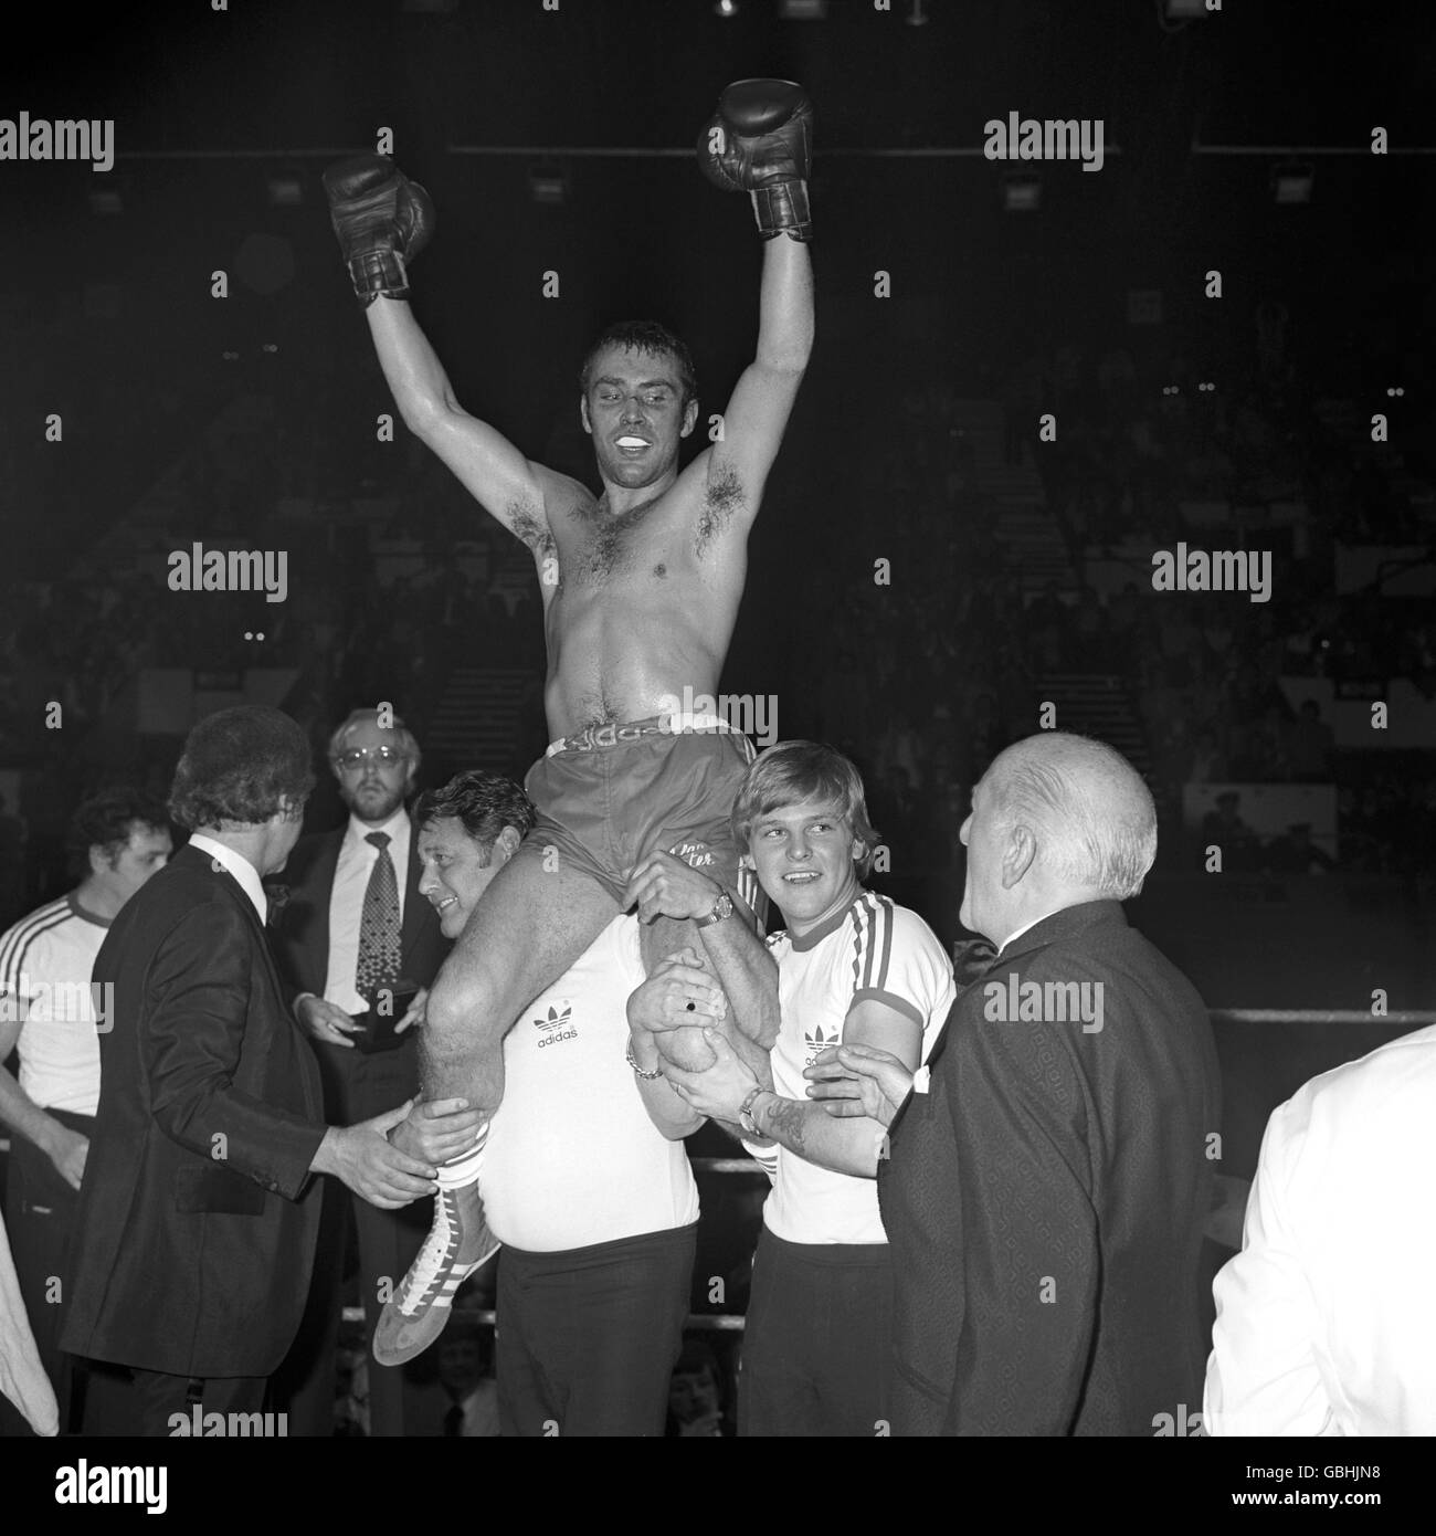
[[[665,1072],[696,1111],[737,1123],[773,1178],[748,1303],[739,1435],[877,1435],[892,1322],[874,1184],[883,1127],[828,1115],[808,1097],[803,1071],[839,1041],[889,1051],[915,1071],[952,1005],[952,963],[915,912],[863,889],[877,833],[857,768],[831,746],[780,742],[763,753],[739,791],[733,826],[788,925],[768,940],[782,1001],[771,1074],[717,1034],[706,1072]],[[656,971],[654,983],[662,980],[699,986],[702,974],[674,957]],[[636,1000],[630,1012],[639,1009]]]

